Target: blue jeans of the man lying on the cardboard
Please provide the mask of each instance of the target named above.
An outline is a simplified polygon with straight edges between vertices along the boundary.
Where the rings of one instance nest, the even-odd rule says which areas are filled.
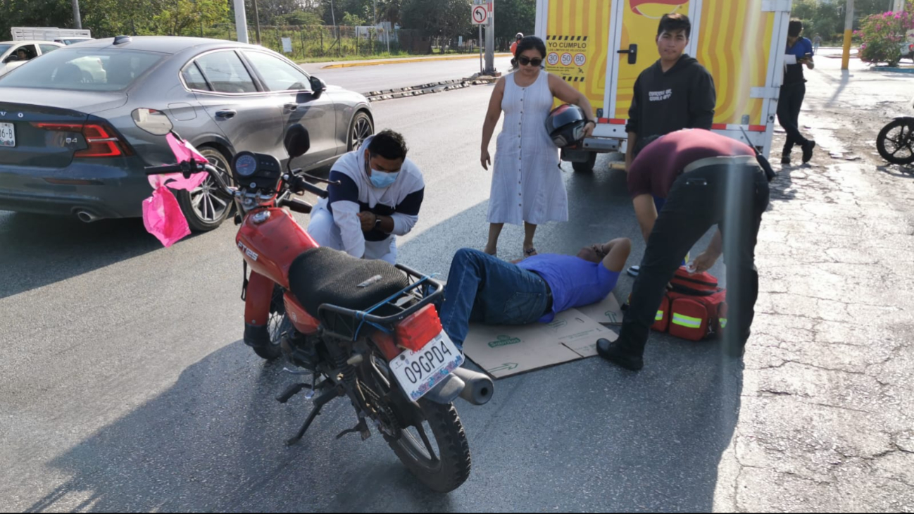
[[[487,325],[526,325],[546,311],[546,281],[484,252],[463,248],[454,254],[444,301],[438,309],[441,325],[462,347],[471,321]]]

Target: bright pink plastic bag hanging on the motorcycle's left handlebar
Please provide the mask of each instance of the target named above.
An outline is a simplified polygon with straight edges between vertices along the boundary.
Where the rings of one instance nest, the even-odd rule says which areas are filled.
[[[173,134],[166,135],[165,139],[175,154],[175,162],[207,162],[207,158],[186,141],[178,140]],[[143,200],[143,225],[166,248],[190,234],[190,227],[171,189],[192,191],[203,184],[207,176],[207,172],[201,172],[190,178],[185,178],[180,173],[148,177],[149,185],[153,187],[153,196]]]

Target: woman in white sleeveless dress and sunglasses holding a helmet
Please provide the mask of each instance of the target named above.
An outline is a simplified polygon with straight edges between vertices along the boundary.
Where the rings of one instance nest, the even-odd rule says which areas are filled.
[[[546,118],[558,98],[574,103],[588,117],[585,137],[596,121],[587,97],[565,80],[541,70],[546,45],[536,36],[521,39],[515,59],[519,68],[498,80],[489,101],[483,125],[481,161],[492,164],[489,143],[498,119],[505,112],[505,125],[495,147],[492,191],[489,195],[489,241],[485,252],[494,255],[505,223],[524,224],[524,257],[536,255],[533,236],[537,225],[568,221],[568,194],[558,162],[558,148],[546,132]]]

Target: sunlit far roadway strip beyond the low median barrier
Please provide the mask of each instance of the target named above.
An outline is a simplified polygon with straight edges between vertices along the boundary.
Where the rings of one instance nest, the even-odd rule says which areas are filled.
[[[443,80],[465,79],[479,73],[479,59],[453,59],[440,61],[385,64],[324,70],[326,63],[304,64],[308,73],[334,86],[357,91],[381,91],[394,88],[419,86]],[[507,72],[510,58],[496,58],[495,69]]]

